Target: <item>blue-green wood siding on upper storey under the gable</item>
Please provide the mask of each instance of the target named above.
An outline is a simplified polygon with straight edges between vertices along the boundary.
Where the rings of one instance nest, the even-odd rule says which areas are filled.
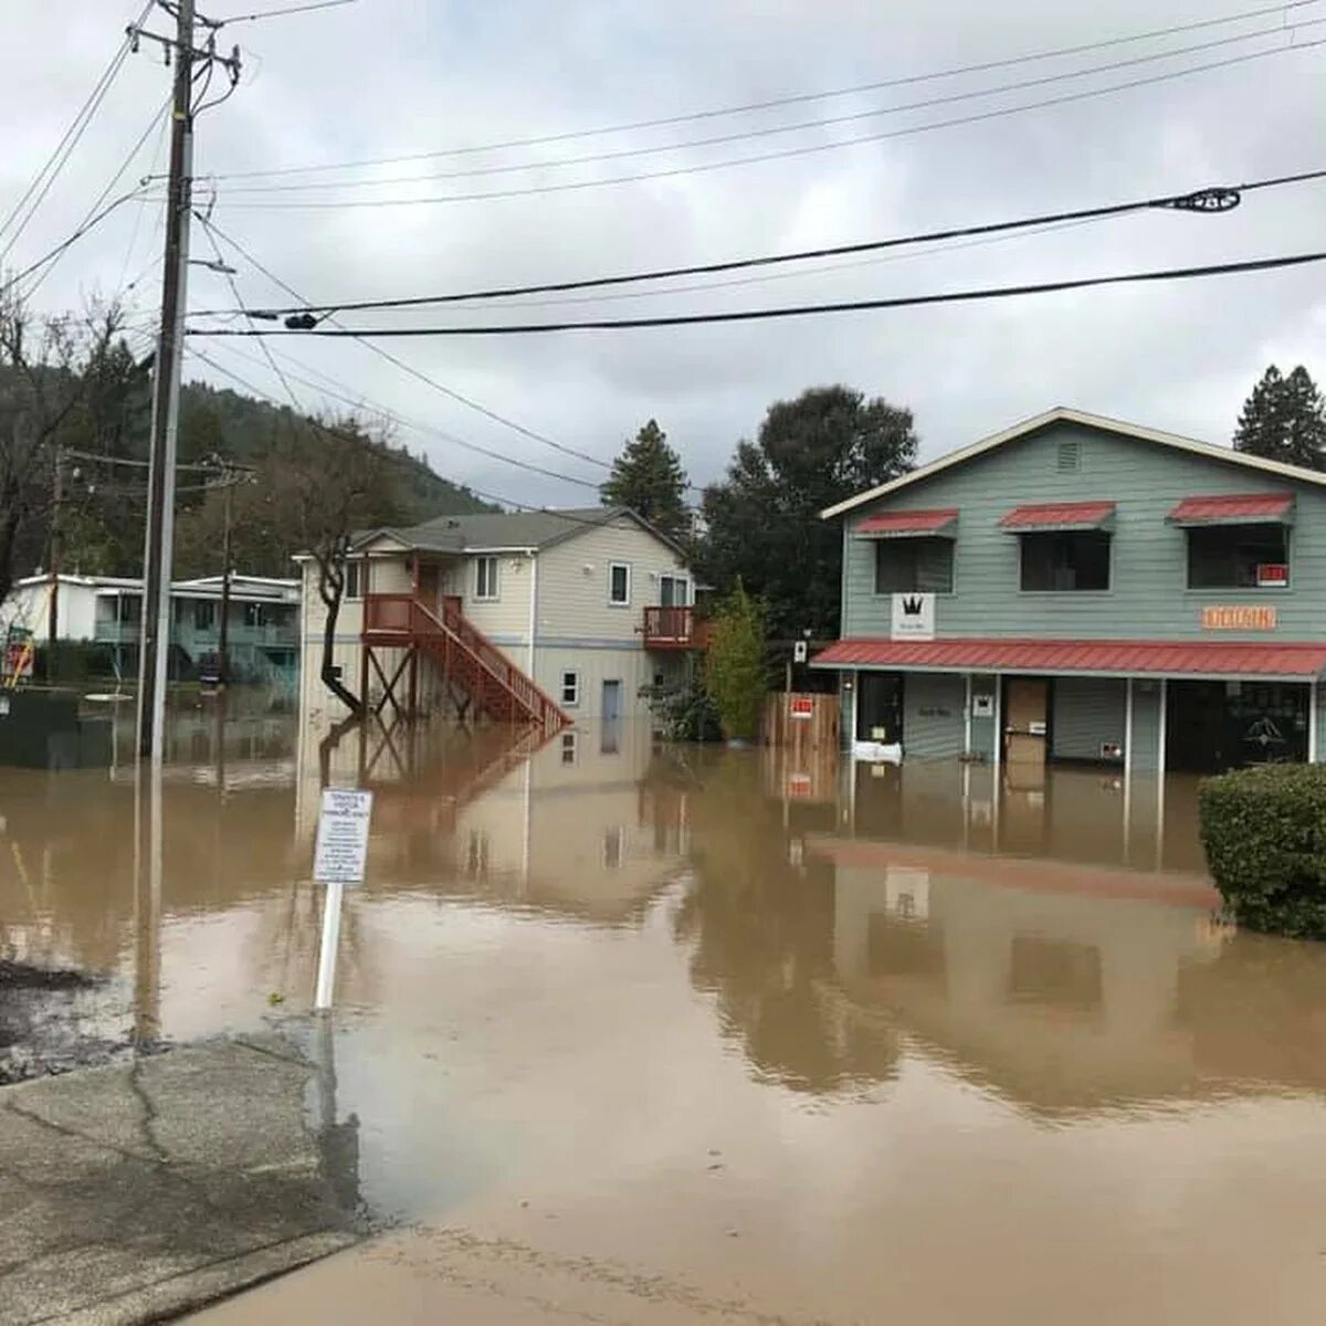
[[[1059,443],[1081,444],[1081,468],[1058,468]],[[1284,590],[1187,589],[1187,541],[1166,514],[1201,493],[1296,491],[1292,585]],[[1113,500],[1111,586],[1101,593],[1021,593],[1018,538],[1000,517],[1024,503]],[[953,593],[936,602],[939,638],[1315,640],[1326,630],[1326,488],[1260,475],[1236,463],[1058,422],[845,517],[843,636],[888,636],[890,599],[875,594],[875,545],[854,538],[867,516],[956,507]],[[1203,631],[1212,603],[1268,603],[1276,631]]]

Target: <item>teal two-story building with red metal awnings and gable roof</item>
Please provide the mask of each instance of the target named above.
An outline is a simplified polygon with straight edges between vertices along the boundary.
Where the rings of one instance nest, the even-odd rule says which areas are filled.
[[[1326,475],[1055,408],[839,503],[873,757],[1318,760]]]

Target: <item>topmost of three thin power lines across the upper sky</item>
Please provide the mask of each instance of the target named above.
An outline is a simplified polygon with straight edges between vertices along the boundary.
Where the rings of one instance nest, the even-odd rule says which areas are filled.
[[[888,88],[904,88],[916,84],[931,82],[940,78],[956,78],[965,74],[988,73],[993,69],[1009,69],[1017,65],[1033,64],[1044,60],[1058,60],[1067,56],[1087,54],[1094,50],[1107,50],[1116,46],[1132,45],[1143,41],[1156,41],[1162,37],[1180,36],[1188,32],[1199,32],[1209,28],[1224,27],[1250,19],[1262,19],[1268,15],[1288,15],[1292,9],[1305,9],[1319,4],[1321,0],[1289,0],[1286,4],[1262,5],[1256,9],[1244,9],[1238,13],[1227,15],[1221,19],[1201,19],[1195,23],[1175,24],[1168,28],[1152,28],[1148,32],[1132,33],[1122,37],[1110,37],[1102,41],[1089,41],[1071,46],[1057,46],[1049,50],[1037,50],[1021,56],[1010,56],[1002,60],[985,60],[979,64],[957,65],[948,69],[937,69],[930,73],[907,74],[896,78],[882,78],[866,84],[855,84],[849,88],[835,88],[826,91],[794,93],[784,97],[772,97],[765,101],[745,102],[739,106],[721,106],[709,110],[688,111],[679,115],[655,117],[652,119],[636,119],[627,123],[601,126],[598,129],[579,129],[558,134],[541,134],[532,138],[512,138],[504,142],[481,143],[472,147],[451,147],[442,151],[410,152],[398,156],[363,158],[350,162],[334,162],[322,166],[286,166],[269,170],[231,171],[217,175],[217,179],[260,179],[276,175],[305,175],[326,170],[353,170],[363,166],[395,166],[415,160],[438,160],[447,156],[468,156],[480,152],[504,151],[512,147],[542,147],[550,143],[572,142],[581,138],[598,138],[605,134],[629,133],[639,129],[662,129],[671,125],[693,123],[703,119],[716,119],[725,115],[749,114],[760,110],[772,110],[778,106],[804,105],[812,101],[827,101],[835,97],[849,97],[863,91],[883,91]]]

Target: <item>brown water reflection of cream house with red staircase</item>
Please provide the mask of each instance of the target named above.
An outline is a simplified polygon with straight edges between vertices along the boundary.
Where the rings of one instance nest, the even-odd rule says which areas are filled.
[[[505,727],[374,724],[330,749],[308,725],[298,830],[318,790],[374,792],[370,887],[430,884],[594,920],[638,914],[683,865],[686,789],[655,769],[648,723],[589,721],[541,735]]]

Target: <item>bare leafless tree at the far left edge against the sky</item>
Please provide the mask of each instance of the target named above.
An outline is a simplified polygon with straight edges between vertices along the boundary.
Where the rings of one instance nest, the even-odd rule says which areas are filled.
[[[89,408],[89,389],[119,332],[119,310],[38,318],[0,294],[0,602],[17,558],[52,513],[61,438]]]

